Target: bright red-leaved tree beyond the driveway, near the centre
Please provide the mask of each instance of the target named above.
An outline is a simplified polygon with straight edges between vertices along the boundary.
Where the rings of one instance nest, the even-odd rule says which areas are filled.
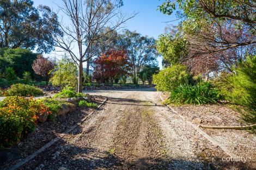
[[[114,78],[127,74],[129,69],[129,58],[127,51],[124,49],[109,49],[94,60],[93,78],[98,83],[110,81],[113,83]]]

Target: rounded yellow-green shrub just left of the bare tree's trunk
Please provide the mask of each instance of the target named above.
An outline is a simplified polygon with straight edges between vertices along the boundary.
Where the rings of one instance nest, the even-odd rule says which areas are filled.
[[[53,86],[65,86],[77,87],[77,67],[74,62],[63,59],[60,60],[52,70],[52,77],[50,79]]]

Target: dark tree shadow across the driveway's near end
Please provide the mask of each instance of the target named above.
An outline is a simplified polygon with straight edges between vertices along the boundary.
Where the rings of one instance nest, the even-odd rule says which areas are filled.
[[[215,158],[215,160],[221,160]],[[111,151],[60,140],[20,169],[254,169],[243,162],[140,158],[127,161]]]

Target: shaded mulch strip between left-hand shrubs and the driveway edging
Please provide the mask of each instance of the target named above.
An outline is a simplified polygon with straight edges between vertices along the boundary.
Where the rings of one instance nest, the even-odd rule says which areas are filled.
[[[100,103],[102,97],[94,97],[95,103]],[[0,169],[8,169],[21,159],[26,158],[28,155],[34,153],[36,150],[50,142],[53,138],[69,129],[72,125],[79,122],[83,117],[86,117],[92,108],[81,107],[77,108],[74,112],[57,116],[54,121],[47,121],[45,123],[38,123],[34,133],[28,134],[23,137],[21,142],[11,149],[18,150],[20,154],[19,159],[0,163]]]

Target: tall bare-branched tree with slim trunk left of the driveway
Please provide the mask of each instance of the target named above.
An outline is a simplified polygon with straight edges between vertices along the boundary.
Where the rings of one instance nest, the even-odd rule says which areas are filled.
[[[78,66],[78,92],[82,92],[83,62],[89,61],[99,48],[93,43],[121,28],[121,25],[136,14],[127,16],[120,11],[123,1],[120,0],[62,0],[60,11],[68,17],[70,23],[60,23],[64,36],[52,35],[57,47],[68,52],[72,60]],[[109,27],[109,31],[101,34]],[[110,39],[110,38],[109,38]],[[76,54],[78,51],[78,54]]]

